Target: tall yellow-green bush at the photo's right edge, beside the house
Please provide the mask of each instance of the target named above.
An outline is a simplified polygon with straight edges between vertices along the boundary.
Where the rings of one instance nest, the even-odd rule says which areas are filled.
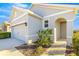
[[[79,55],[79,32],[75,32],[73,35],[73,49]]]

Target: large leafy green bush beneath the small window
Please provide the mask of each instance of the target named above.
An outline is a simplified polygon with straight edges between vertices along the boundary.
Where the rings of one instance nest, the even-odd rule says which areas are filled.
[[[49,47],[52,43],[51,41],[51,29],[45,29],[38,32],[39,39],[37,41],[38,46]]]

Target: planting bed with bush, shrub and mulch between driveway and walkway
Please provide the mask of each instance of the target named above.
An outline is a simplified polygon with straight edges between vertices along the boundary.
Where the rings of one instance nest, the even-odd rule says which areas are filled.
[[[39,39],[36,42],[31,42],[33,44],[24,44],[16,47],[22,54],[26,56],[40,56],[43,54],[47,48],[52,44],[51,41],[51,29],[41,30],[38,33]]]

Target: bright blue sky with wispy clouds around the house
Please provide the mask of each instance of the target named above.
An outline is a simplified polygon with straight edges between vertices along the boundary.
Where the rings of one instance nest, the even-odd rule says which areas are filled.
[[[71,4],[71,3],[69,3]],[[73,4],[73,3],[72,3]],[[79,4],[73,4],[73,5],[79,5]],[[10,20],[11,10],[12,6],[19,6],[26,9],[29,9],[32,4],[31,3],[0,3],[0,24],[2,24],[4,21]],[[75,17],[75,21],[73,23],[74,29],[79,29],[79,12]]]

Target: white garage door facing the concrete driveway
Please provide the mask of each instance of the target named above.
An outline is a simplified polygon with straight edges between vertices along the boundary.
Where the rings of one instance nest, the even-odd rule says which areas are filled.
[[[20,24],[13,27],[13,36],[16,39],[27,41],[27,26],[25,24]]]

